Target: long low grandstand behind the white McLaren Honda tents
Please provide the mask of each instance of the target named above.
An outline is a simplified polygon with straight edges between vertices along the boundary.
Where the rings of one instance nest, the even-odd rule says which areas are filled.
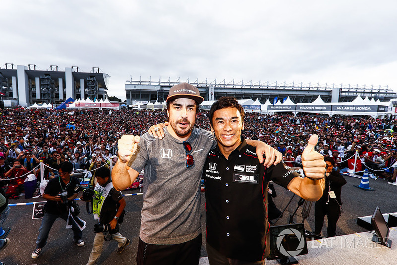
[[[362,98],[369,97],[374,100],[390,101],[393,98],[397,98],[397,93],[392,91],[388,86],[367,86],[367,85],[335,85],[335,84],[303,84],[300,83],[289,83],[286,82],[278,83],[269,81],[262,82],[244,82],[240,80],[236,82],[232,80],[226,82],[222,80],[217,82],[215,79],[212,82],[208,82],[205,79],[203,82],[199,82],[197,78],[195,81],[190,82],[189,78],[186,81],[181,81],[179,78],[177,81],[172,82],[170,78],[167,81],[161,80],[161,77],[152,81],[149,78],[148,81],[139,80],[126,81],[125,91],[127,97],[127,105],[142,102],[147,104],[150,102],[163,102],[167,97],[169,89],[181,82],[187,82],[193,86],[199,88],[201,95],[205,100],[216,100],[222,96],[234,96],[237,99],[259,99],[263,104],[267,99],[270,102],[277,97],[283,99],[290,97],[290,99],[296,103],[311,103],[319,95],[324,102],[351,102],[358,95]]]

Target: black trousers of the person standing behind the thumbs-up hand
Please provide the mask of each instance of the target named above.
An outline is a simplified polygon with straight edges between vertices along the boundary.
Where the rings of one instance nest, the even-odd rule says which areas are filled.
[[[316,202],[314,205],[314,233],[318,235],[321,233],[326,215],[328,220],[327,237],[334,237],[336,235],[336,223],[340,216],[340,206],[336,201],[329,202],[328,204],[325,204],[323,201]]]

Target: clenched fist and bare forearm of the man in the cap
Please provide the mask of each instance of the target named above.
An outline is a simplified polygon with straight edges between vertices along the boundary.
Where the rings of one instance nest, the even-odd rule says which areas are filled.
[[[139,141],[139,136],[123,135],[117,142],[119,159],[112,169],[112,181],[115,189],[119,191],[131,186],[132,182],[139,176],[139,172],[127,166],[138,147]]]

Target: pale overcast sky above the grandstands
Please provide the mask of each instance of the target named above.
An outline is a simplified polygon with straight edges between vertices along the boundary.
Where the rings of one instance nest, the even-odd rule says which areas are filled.
[[[92,67],[126,80],[386,86],[396,0],[1,0],[0,66]]]

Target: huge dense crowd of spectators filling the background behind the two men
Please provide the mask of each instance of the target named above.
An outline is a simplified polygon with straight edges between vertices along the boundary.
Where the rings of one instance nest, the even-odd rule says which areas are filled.
[[[117,140],[123,134],[141,135],[151,125],[165,121],[166,111],[161,110],[3,110],[0,177],[15,178],[33,170],[31,173],[40,179],[40,169],[36,168],[40,160],[50,167],[46,167],[46,179],[57,174],[63,161],[72,162],[75,169],[97,168],[116,159]],[[206,111],[199,112],[196,126],[210,129]],[[355,150],[369,169],[390,167],[397,161],[394,119],[254,112],[246,113],[244,127],[245,138],[278,149],[291,166],[298,166],[291,161],[299,162],[312,134],[319,136],[317,151],[332,157],[336,168],[346,167],[345,160]]]

